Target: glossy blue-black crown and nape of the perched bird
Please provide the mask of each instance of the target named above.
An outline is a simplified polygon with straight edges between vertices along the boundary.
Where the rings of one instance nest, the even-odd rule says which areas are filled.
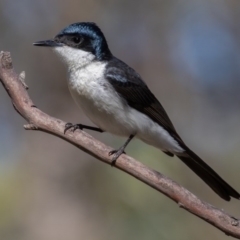
[[[99,60],[106,60],[107,58],[111,57],[111,52],[108,48],[107,41],[102,31],[95,23],[73,23],[59,32],[56,37],[66,35],[74,35],[83,38],[84,42],[82,45],[79,45],[79,48],[93,52]]]

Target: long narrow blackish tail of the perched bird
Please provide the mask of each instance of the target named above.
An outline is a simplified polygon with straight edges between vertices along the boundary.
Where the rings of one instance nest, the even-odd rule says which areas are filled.
[[[178,156],[178,158],[191,168],[221,198],[226,201],[230,201],[231,197],[240,199],[240,194],[193,151],[187,148],[185,154],[186,156]]]

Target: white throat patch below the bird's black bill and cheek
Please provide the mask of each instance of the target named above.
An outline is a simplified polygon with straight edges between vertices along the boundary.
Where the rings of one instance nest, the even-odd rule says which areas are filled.
[[[90,64],[95,56],[81,49],[68,46],[54,47],[53,50],[61,57],[63,62],[67,64],[68,70],[77,70]]]

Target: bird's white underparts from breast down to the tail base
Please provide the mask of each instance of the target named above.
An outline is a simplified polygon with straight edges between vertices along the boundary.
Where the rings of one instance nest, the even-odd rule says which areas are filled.
[[[104,63],[70,73],[69,89],[76,103],[99,128],[115,135],[135,135],[161,150],[182,152],[179,144],[148,116],[129,107],[108,83]]]

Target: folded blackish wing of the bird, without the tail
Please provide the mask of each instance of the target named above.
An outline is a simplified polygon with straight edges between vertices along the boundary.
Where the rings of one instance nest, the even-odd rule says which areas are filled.
[[[105,77],[131,107],[146,114],[167,130],[179,144],[184,145],[161,103],[132,68],[113,58],[108,63]]]

